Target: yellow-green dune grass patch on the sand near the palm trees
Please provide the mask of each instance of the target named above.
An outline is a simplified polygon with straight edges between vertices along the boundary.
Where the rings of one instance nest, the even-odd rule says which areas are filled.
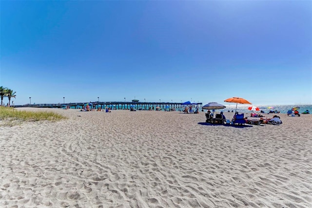
[[[58,113],[47,112],[47,111],[18,111],[14,108],[0,107],[0,120],[3,120],[2,125],[14,126],[22,123],[23,121],[59,121],[66,119],[65,116]]]

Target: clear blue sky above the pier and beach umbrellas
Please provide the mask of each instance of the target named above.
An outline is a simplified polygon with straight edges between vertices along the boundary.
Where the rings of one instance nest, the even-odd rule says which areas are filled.
[[[312,104],[312,1],[1,0],[0,86],[16,105]]]

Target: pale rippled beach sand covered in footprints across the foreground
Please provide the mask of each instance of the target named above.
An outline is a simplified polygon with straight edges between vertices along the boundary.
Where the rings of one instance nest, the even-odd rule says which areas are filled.
[[[68,119],[0,127],[1,208],[312,208],[311,114],[43,110]]]

